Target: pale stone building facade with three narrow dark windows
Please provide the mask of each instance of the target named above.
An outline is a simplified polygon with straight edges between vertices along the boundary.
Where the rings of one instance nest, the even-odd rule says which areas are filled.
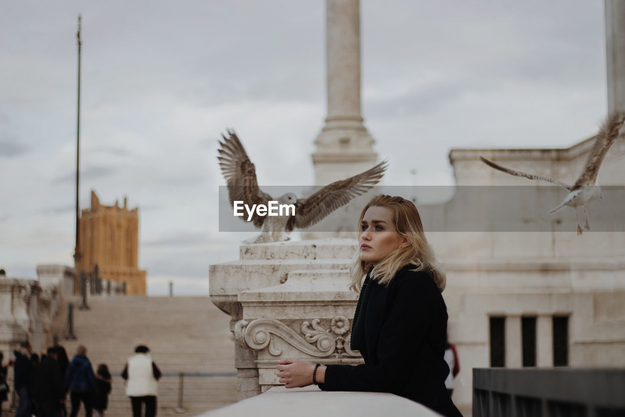
[[[479,156],[574,183],[593,143],[594,137],[562,149],[454,149],[449,160],[459,187],[524,185],[538,196],[561,190],[564,197],[564,188],[493,170]],[[597,185],[618,191],[624,162],[625,143],[618,141]],[[625,366],[625,232],[577,235],[564,227],[574,224],[568,207],[553,217],[537,232],[428,234],[447,272],[449,337],[461,361],[456,403],[471,403],[472,368]],[[596,224],[592,206],[589,217]]]

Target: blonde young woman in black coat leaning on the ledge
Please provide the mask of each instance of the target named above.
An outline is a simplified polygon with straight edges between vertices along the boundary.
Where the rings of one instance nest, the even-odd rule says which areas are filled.
[[[360,297],[351,348],[360,351],[364,364],[319,366],[282,359],[280,383],[286,388],[315,383],[324,391],[393,393],[444,416],[462,417],[445,388],[445,275],[427,243],[419,212],[409,200],[377,195],[362,210],[358,226],[360,247],[350,288],[360,291]]]

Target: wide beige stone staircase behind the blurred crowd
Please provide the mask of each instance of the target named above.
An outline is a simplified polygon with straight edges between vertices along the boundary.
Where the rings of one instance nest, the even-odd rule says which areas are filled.
[[[66,298],[54,326],[58,334],[63,334],[68,302],[80,304],[77,297]],[[111,373],[117,374],[113,376],[108,417],[132,414],[124,394],[124,380],[118,375],[138,344],[150,348],[164,374],[159,381],[159,416],[192,416],[236,401],[236,376],[185,376],[185,411],[174,411],[178,408],[178,373],[236,373],[230,317],[209,297],[92,297],[88,304],[88,311],[74,309],[77,339],[59,337],[59,344],[66,348],[70,359],[83,344],[94,369],[105,363]],[[81,410],[79,415],[84,412]]]

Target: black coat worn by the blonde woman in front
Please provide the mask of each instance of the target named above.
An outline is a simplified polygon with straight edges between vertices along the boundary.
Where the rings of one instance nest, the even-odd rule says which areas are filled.
[[[393,393],[462,417],[445,388],[447,307],[431,275],[411,268],[400,269],[388,286],[369,281],[364,364],[328,365],[319,388]]]

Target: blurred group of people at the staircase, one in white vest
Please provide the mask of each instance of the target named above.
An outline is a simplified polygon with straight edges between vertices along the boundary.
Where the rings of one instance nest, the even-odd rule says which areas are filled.
[[[51,346],[41,355],[32,352],[31,344],[22,342],[7,366],[0,353],[0,417],[2,403],[9,398],[8,369],[13,369],[13,387],[17,394],[16,417],[76,417],[81,405],[86,417],[103,417],[108,408],[112,379],[106,364],[94,371],[87,348],[80,345],[70,361],[63,346]],[[147,346],[137,346],[122,373],[133,416],[156,416],[157,381],[161,371],[149,356]],[[66,399],[69,394],[69,404]],[[69,413],[68,413],[69,405]]]

